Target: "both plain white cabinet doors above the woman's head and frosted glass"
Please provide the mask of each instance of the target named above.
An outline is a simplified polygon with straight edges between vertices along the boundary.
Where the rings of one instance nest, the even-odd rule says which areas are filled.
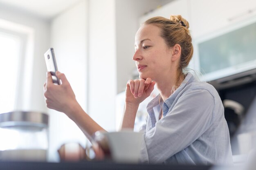
[[[182,15],[198,38],[256,15],[256,0],[175,0],[140,18],[140,24],[155,16]]]

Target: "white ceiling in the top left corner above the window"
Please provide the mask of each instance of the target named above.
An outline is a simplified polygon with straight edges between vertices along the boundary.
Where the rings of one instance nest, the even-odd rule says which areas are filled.
[[[81,0],[0,0],[0,5],[50,19],[79,1]]]

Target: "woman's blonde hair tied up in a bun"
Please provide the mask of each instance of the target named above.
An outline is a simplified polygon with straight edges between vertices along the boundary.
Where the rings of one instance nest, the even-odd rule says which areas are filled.
[[[146,24],[155,24],[161,31],[161,37],[164,39],[168,47],[173,47],[175,44],[181,46],[180,64],[177,68],[177,77],[174,88],[176,89],[181,80],[184,79],[183,70],[189,65],[193,56],[192,38],[189,31],[189,22],[182,18],[181,15],[171,15],[170,19],[164,17],[153,17]],[[183,78],[183,79],[182,79]],[[173,89],[175,91],[175,89]]]

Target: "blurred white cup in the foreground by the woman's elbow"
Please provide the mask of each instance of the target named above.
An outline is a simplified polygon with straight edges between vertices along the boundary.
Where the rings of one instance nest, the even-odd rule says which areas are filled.
[[[117,163],[139,163],[141,132],[121,130],[119,132],[95,132],[93,145],[96,159],[111,159]],[[95,148],[97,150],[95,150]]]

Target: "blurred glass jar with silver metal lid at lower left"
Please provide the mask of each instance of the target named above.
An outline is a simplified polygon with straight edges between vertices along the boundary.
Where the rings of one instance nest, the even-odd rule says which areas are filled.
[[[48,143],[47,114],[0,114],[0,160],[47,161]]]

